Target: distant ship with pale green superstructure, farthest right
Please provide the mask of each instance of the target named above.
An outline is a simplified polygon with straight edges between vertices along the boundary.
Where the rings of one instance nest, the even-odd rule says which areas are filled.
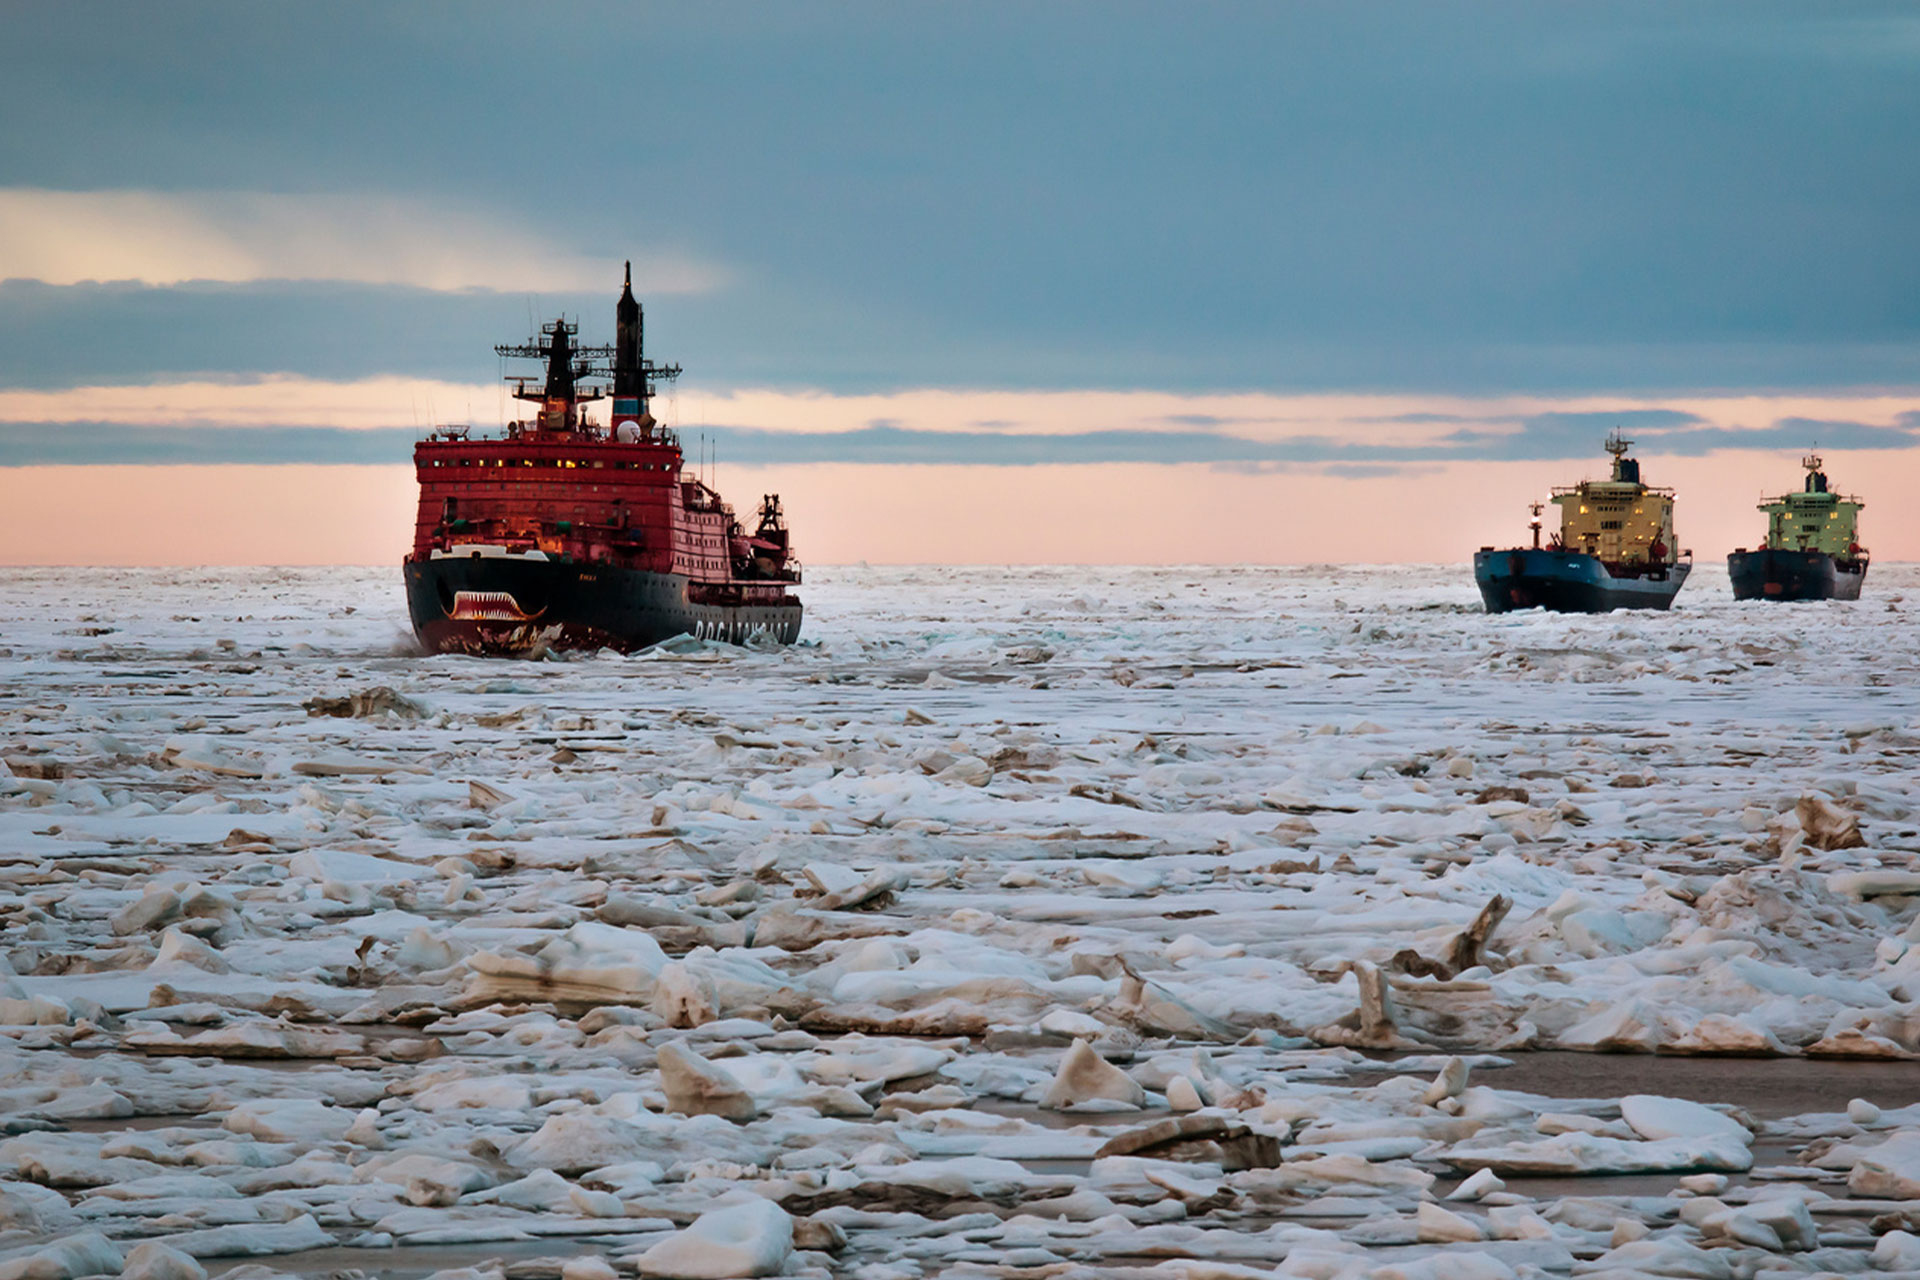
[[[1764,499],[1766,541],[1726,557],[1736,601],[1857,601],[1866,581],[1857,497],[1828,489],[1820,455],[1801,459],[1807,484],[1799,493]]]

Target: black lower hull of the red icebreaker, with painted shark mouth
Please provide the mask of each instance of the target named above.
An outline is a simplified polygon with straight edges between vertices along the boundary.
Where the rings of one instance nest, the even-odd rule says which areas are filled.
[[[413,633],[432,652],[632,652],[676,635],[733,645],[791,645],[801,635],[793,595],[737,599],[755,583],[712,585],[684,574],[530,557],[407,560],[405,574]]]

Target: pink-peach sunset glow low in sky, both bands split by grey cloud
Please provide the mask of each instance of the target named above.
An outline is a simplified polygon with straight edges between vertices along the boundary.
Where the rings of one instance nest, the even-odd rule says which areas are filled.
[[[883,395],[689,388],[662,397],[697,466],[708,426],[749,432],[845,432],[889,422],[916,439],[972,432],[983,457],[991,438],[1104,430],[1192,436],[1192,422],[1261,443],[1340,441],[1417,449],[1463,428],[1511,434],[1517,418],[1544,413],[1667,409],[1701,424],[1745,432],[1786,418],[1809,422],[1899,420],[1914,401],[1899,395],[1692,395],[1459,397],[1275,395],[1164,391],[950,391]],[[296,422],[344,430],[407,420],[480,422],[507,409],[490,384],[376,378],[196,380],[146,388],[0,391],[0,424],[86,422],[204,424],[244,434]],[[428,418],[432,415],[432,418]],[[1430,418],[1440,418],[1438,422]],[[1803,447],[1818,443],[1809,428]],[[977,443],[981,438],[985,443]],[[995,466],[804,462],[756,466],[722,453],[712,472],[735,507],[783,495],[799,551],[816,564],[841,562],[1459,562],[1482,545],[1526,533],[1526,503],[1549,486],[1605,472],[1594,432],[1584,457],[1532,461],[1409,461],[1329,468],[1311,462],[1073,462]],[[960,439],[952,436],[952,439]],[[1682,545],[1701,560],[1759,537],[1753,505],[1799,486],[1799,449],[1720,449],[1668,457],[1640,449],[1651,484],[1680,491]],[[405,441],[392,466],[15,466],[0,468],[0,533],[10,564],[382,564],[397,562],[413,528],[415,487]],[[1866,499],[1866,543],[1884,558],[1920,558],[1920,516],[1897,495],[1920,482],[1907,449],[1828,453],[1834,484]],[[81,518],[84,512],[84,518]]]

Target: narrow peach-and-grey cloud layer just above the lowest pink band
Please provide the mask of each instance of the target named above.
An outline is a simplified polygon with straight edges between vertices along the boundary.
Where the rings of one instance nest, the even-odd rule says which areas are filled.
[[[1743,395],[1670,405],[1511,397],[1432,403],[1430,413],[1417,415],[1404,399],[1379,395],[948,390],[826,395],[689,388],[659,399],[655,413],[707,457],[781,466],[1135,462],[1367,478],[1448,462],[1599,464],[1601,441],[1615,428],[1636,441],[1642,457],[1724,451],[1797,457],[1809,447],[1920,445],[1920,411],[1893,395]],[[520,416],[520,405],[499,386],[413,378],[202,378],[0,390],[0,464],[403,462],[409,441],[428,424],[470,424],[484,436],[511,416]],[[1405,422],[1409,416],[1421,420]],[[1169,426],[1181,418],[1248,426]]]

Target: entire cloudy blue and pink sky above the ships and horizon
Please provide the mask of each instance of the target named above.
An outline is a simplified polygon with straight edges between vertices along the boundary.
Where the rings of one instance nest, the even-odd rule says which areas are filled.
[[[382,562],[609,342],[812,562],[1463,560],[1607,430],[1920,558],[1910,4],[23,4],[0,562]]]

